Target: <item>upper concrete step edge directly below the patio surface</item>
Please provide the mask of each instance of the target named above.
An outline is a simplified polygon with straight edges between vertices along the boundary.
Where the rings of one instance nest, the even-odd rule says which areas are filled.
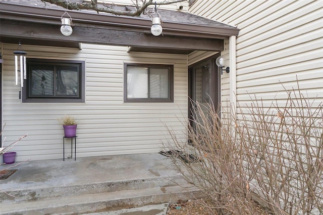
[[[136,190],[154,187],[169,187],[174,185],[182,185],[186,182],[180,176],[171,178],[154,177],[146,179],[122,180],[111,182],[95,182],[86,184],[74,184],[69,186],[56,187],[35,187],[25,189],[8,189],[6,193],[15,196],[12,197],[4,192],[0,192],[0,203],[20,203],[39,201],[46,198],[56,198],[62,195],[73,196],[83,194],[105,193],[120,190]]]

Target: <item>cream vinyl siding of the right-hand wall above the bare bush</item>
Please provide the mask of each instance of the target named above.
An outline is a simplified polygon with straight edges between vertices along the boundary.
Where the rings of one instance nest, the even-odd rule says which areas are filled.
[[[321,1],[200,1],[189,12],[237,26],[237,100],[250,104],[248,95],[269,106],[291,90],[323,101],[323,4]],[[222,54],[228,55],[226,51]],[[229,55],[228,55],[229,57]],[[222,88],[227,81],[222,78]],[[225,92],[223,91],[223,96]],[[222,99],[223,101],[224,99]]]

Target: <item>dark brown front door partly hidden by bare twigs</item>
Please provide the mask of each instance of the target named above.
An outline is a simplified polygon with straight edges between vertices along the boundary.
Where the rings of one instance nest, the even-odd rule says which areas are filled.
[[[213,107],[217,110],[220,104],[221,74],[216,65],[218,56],[219,55],[212,56],[188,68],[188,118],[194,129],[196,128],[196,121],[202,123],[199,116],[200,113],[194,111],[197,103],[200,105],[201,110],[205,115],[207,115],[209,107]]]

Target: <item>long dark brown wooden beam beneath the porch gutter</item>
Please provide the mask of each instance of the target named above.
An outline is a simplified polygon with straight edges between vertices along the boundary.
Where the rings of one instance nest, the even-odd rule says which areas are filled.
[[[60,25],[31,23],[13,20],[0,20],[0,36],[4,38],[19,38],[23,41],[48,41],[75,44],[84,42],[89,44],[130,46],[147,49],[169,50],[202,50],[223,51],[223,39],[184,37],[184,36],[153,36],[151,33],[125,31],[118,29],[92,28],[91,26],[74,26],[71,36],[64,36],[60,32]]]

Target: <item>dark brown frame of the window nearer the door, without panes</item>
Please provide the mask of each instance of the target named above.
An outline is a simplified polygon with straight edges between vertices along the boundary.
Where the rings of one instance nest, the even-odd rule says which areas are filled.
[[[167,68],[169,69],[169,96],[168,98],[127,98],[128,85],[127,85],[127,67],[138,66],[150,68]],[[149,86],[149,73],[148,73],[148,86]],[[149,94],[148,94],[149,95]],[[174,102],[174,65],[171,64],[140,64],[140,63],[124,63],[124,102],[125,103],[159,103],[159,102]]]

